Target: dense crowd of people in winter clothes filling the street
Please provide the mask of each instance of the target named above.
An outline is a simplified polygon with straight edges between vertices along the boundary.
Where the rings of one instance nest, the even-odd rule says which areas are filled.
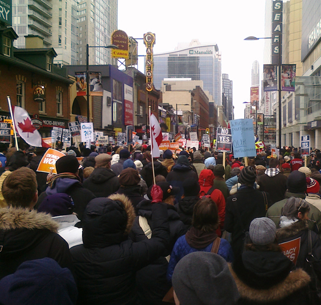
[[[321,303],[320,150],[60,150],[0,143],[0,304]]]

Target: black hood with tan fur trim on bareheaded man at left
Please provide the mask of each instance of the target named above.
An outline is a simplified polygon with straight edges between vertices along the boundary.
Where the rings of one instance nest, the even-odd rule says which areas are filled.
[[[2,258],[14,258],[32,249],[50,232],[57,233],[58,223],[50,215],[29,208],[0,209],[0,230],[4,231]]]

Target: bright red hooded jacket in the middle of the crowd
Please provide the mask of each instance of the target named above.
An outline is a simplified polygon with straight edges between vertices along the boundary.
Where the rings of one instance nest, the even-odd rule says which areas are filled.
[[[203,197],[207,194],[209,189],[213,186],[213,181],[214,181],[214,174],[210,169],[203,169],[200,173],[199,177],[199,184],[201,187],[200,191],[200,197]],[[221,233],[221,228],[224,228],[224,220],[225,220],[225,198],[223,193],[215,189],[211,194],[210,198],[216,203],[219,211],[219,217],[220,217],[220,227],[217,230],[217,234],[219,236],[222,235]]]

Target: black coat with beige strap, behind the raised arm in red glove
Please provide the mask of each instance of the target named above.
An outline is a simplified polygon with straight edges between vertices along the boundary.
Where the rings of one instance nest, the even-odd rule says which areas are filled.
[[[159,257],[151,264],[137,271],[136,284],[139,298],[143,304],[160,304],[171,288],[166,280],[168,261],[165,258],[170,255],[178,237],[185,233],[184,225],[179,220],[179,215],[173,205],[166,204],[168,212],[168,222],[170,227],[169,244],[162,257]],[[152,220],[151,200],[144,200],[138,205],[138,216],[132,226],[131,234],[133,241],[148,240],[142,228],[139,225],[139,217],[145,217],[149,226],[154,226]]]

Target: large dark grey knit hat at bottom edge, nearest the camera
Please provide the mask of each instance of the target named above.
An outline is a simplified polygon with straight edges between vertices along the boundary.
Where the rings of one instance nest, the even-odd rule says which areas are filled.
[[[232,305],[238,290],[223,257],[210,252],[193,252],[176,265],[172,283],[184,305]]]

